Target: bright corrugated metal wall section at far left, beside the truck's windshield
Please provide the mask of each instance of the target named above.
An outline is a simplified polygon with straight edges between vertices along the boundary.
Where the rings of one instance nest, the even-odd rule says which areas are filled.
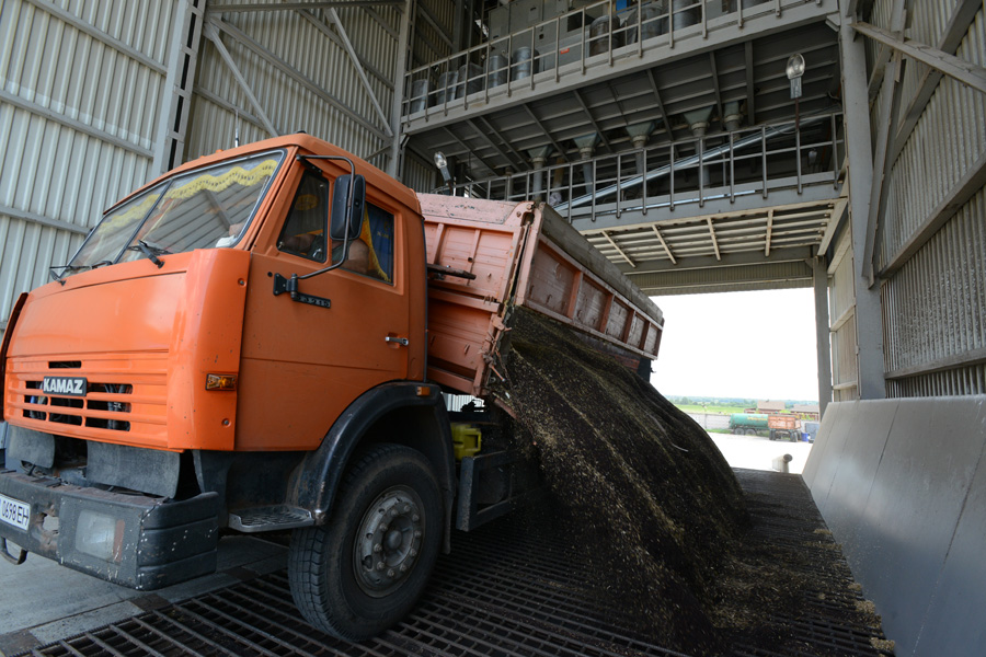
[[[154,174],[172,0],[0,2],[0,327]]]

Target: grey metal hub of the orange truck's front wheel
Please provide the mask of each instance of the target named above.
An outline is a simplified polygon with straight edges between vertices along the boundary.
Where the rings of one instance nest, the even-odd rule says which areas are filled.
[[[381,493],[356,530],[353,567],[368,596],[383,597],[410,575],[424,537],[424,514],[417,494],[408,486]]]

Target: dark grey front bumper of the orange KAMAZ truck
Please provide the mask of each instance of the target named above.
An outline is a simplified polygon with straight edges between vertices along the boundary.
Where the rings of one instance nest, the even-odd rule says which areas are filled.
[[[0,538],[100,579],[153,590],[216,570],[216,493],[172,502],[0,470],[0,494],[31,506],[27,530],[0,522]]]

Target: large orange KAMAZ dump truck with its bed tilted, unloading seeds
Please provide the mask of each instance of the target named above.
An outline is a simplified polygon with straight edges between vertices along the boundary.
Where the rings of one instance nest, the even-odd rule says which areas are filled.
[[[156,589],[290,530],[306,619],[371,636],[452,528],[532,495],[491,394],[521,307],[657,354],[661,311],[543,204],[417,195],[306,135],[190,162],[15,304],[0,552]]]

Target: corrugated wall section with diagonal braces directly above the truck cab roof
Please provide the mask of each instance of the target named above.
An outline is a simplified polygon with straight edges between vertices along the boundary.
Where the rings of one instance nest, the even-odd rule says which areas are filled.
[[[344,48],[330,11],[222,13],[207,8],[206,20],[218,27],[218,38],[277,134],[305,130],[386,169],[380,151],[392,142],[387,129],[402,8],[381,5],[371,13],[336,10],[372,95]],[[294,74],[285,72],[285,67]],[[240,143],[271,136],[215,38],[203,38],[185,159],[231,148],[238,113]]]

